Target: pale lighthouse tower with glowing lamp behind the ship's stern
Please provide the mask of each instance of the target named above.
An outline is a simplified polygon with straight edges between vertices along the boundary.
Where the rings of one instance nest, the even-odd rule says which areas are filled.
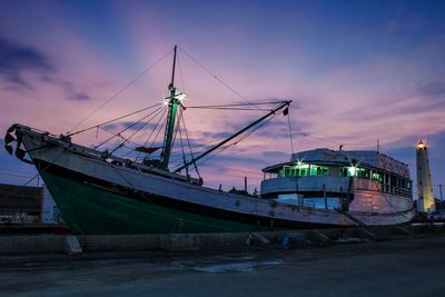
[[[417,211],[432,212],[436,209],[431,180],[428,152],[424,142],[417,143]]]

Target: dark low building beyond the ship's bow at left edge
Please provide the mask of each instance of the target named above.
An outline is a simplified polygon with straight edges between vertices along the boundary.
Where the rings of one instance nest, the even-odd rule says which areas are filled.
[[[42,222],[43,187],[0,184],[0,224]]]

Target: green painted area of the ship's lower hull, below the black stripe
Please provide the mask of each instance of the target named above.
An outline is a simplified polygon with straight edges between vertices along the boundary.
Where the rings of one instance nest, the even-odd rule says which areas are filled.
[[[55,174],[41,176],[76,232],[169,234],[253,231],[257,226],[161,207]]]

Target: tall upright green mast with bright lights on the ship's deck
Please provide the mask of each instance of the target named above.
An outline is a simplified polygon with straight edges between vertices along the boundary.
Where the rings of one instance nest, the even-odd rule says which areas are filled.
[[[168,86],[170,96],[166,98],[168,113],[167,113],[166,130],[164,133],[164,147],[162,147],[162,154],[161,154],[161,167],[167,170],[168,170],[168,162],[170,160],[170,154],[171,154],[176,113],[178,111],[178,106],[180,103],[180,99],[178,98],[179,93],[177,92],[177,89],[175,88],[176,51],[177,51],[177,46],[175,46],[175,50],[174,50],[174,66],[172,66],[172,70],[171,70],[171,82]]]

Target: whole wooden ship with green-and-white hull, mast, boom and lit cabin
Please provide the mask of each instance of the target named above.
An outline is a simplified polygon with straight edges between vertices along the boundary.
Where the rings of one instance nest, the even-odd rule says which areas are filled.
[[[185,95],[175,87],[176,56],[177,47],[169,97],[164,102],[162,146],[136,147],[146,156],[142,160],[118,157],[116,149],[75,143],[75,132],[57,136],[20,123],[7,130],[7,151],[37,168],[72,231],[233,232],[397,225],[413,218],[407,166],[378,152],[314,150],[293,155],[290,162],[264,169],[260,195],[209,188],[200,177],[189,175],[189,167],[236,137],[270,117],[288,116],[290,101],[276,102],[245,128],[171,168],[178,110],[185,110]],[[127,142],[123,139],[122,143]],[[150,156],[156,150],[161,154],[154,159]]]

